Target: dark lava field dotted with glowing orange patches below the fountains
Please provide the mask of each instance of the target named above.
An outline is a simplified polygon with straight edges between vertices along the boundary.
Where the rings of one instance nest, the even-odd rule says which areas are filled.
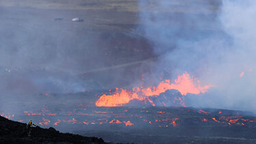
[[[170,136],[172,139],[185,136],[187,141],[190,141],[191,136],[199,136],[199,141],[204,141],[203,139],[211,136],[229,137],[232,141],[236,141],[233,140],[235,138],[246,139],[246,141],[255,139],[254,113],[225,109],[196,109],[175,106],[175,104],[169,107],[152,106],[150,102],[143,102],[144,106],[141,107],[134,106],[139,102],[141,104],[139,100],[133,100],[126,106],[95,106],[99,92],[16,95],[19,102],[12,103],[9,100],[2,102],[1,106],[11,107],[16,104],[20,109],[12,112],[6,109],[1,111],[1,116],[22,123],[32,119],[42,128],[53,127],[61,132],[98,136],[104,141],[122,143],[153,143],[154,139],[143,139],[144,136],[149,135],[163,137],[162,142],[155,139],[156,143],[169,141],[167,139],[170,139]],[[106,93],[103,90],[101,92]],[[173,90],[166,91],[160,96],[163,94],[176,96],[173,98],[174,102],[182,97],[180,92]],[[14,96],[9,98],[15,99]],[[82,98],[86,100],[82,101]],[[168,99],[171,100],[171,98]],[[158,99],[151,98],[151,100],[156,102]]]

